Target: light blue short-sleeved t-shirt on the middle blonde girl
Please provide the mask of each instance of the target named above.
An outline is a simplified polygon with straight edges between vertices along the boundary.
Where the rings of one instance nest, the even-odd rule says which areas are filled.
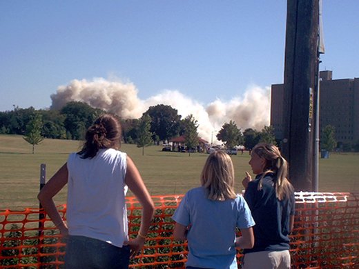
[[[212,201],[204,187],[189,190],[172,218],[183,226],[191,224],[186,266],[203,268],[237,268],[235,228],[255,225],[242,196]]]

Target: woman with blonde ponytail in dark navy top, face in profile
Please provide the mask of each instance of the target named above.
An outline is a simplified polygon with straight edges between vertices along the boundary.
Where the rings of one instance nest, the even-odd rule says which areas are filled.
[[[249,165],[256,177],[252,180],[246,172],[242,183],[255,221],[255,242],[253,248],[244,249],[243,268],[291,268],[289,233],[295,197],[287,179],[288,163],[276,146],[259,143],[251,152]]]

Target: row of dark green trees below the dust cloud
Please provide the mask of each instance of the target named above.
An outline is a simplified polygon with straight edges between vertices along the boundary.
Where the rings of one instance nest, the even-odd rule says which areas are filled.
[[[14,106],[13,110],[0,112],[0,134],[23,135],[34,150],[35,145],[44,138],[84,139],[87,128],[103,113],[104,110],[79,101],[70,101],[61,110],[36,110],[33,107]],[[193,114],[182,119],[171,106],[151,106],[139,119],[118,119],[122,123],[124,143],[135,143],[144,148],[184,135],[188,148],[198,145],[199,125]],[[242,132],[234,121],[224,123],[216,137],[227,148],[237,145],[253,148],[260,141],[276,143],[271,126],[264,126],[260,131],[247,128]]]

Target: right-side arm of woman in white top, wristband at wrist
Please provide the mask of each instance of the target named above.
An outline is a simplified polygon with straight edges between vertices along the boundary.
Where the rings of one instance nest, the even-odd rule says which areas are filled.
[[[139,250],[144,246],[145,237],[148,229],[151,226],[153,218],[153,212],[155,206],[153,204],[151,195],[148,193],[144,181],[142,180],[135,163],[133,163],[130,157],[127,157],[127,171],[125,177],[125,183],[130,188],[131,192],[135,195],[139,203],[142,206],[141,226],[139,227],[139,235],[131,241],[125,242],[130,245],[131,257],[135,256]]]

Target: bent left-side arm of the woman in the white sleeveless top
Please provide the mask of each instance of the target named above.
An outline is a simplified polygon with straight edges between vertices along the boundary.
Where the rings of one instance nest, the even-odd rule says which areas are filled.
[[[61,235],[68,235],[68,228],[66,223],[62,220],[55,203],[52,199],[57,193],[64,188],[64,186],[68,183],[68,169],[67,164],[65,163],[61,168],[51,177],[48,183],[43,186],[40,190],[39,195],[37,195],[37,199],[39,199],[43,209],[45,209],[46,213],[50,216],[51,220],[57,228],[60,230]]]

